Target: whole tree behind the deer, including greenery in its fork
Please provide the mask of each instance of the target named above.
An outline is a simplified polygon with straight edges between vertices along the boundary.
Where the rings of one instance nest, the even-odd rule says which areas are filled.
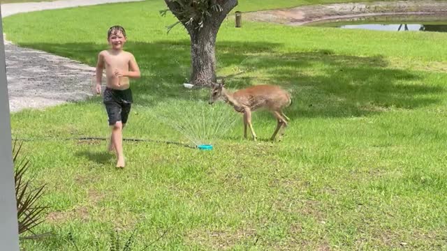
[[[217,32],[237,0],[165,0],[191,38],[191,83],[198,86],[216,82],[215,45]],[[162,10],[165,15],[166,11]]]

